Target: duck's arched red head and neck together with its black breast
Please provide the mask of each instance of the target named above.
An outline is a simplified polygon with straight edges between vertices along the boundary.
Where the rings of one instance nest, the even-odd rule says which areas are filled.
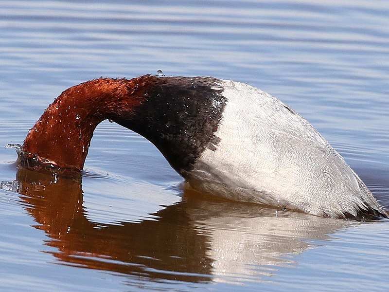
[[[96,126],[111,119],[152,142],[185,177],[206,149],[226,104],[220,80],[210,77],[96,79],[62,92],[30,130],[22,165],[83,169]]]

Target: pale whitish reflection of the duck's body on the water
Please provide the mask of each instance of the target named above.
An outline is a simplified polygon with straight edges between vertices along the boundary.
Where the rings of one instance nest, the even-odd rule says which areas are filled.
[[[278,212],[253,205],[212,203],[191,212],[198,230],[207,236],[213,281],[242,283],[272,280],[282,266],[293,266],[294,255],[312,248],[308,241],[324,240],[355,221],[323,219],[293,212]],[[203,212],[199,214],[198,211]],[[211,215],[209,215],[211,214]]]

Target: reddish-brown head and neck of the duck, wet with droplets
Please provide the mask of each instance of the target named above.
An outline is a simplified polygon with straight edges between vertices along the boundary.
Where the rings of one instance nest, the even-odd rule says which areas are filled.
[[[100,78],[63,91],[29,131],[23,144],[25,155],[83,169],[96,126],[105,119],[130,116],[155,78]]]

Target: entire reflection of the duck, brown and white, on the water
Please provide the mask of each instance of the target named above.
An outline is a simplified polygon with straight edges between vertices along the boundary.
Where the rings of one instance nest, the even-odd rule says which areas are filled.
[[[305,239],[355,224],[256,204],[204,201],[185,190],[183,201],[141,222],[88,221],[81,181],[19,168],[13,185],[36,220],[35,228],[65,264],[122,274],[180,281],[242,281],[291,263],[285,254],[310,247]],[[131,189],[129,189],[131,192]],[[253,269],[253,265],[257,266]]]

